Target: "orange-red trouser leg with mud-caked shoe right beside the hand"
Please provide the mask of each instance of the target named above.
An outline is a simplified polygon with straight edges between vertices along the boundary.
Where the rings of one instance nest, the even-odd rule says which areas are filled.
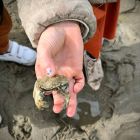
[[[85,44],[84,72],[86,82],[93,90],[98,90],[103,79],[103,69],[100,59],[102,38],[104,33],[106,4],[94,5],[93,12],[97,21],[97,28],[94,36]]]

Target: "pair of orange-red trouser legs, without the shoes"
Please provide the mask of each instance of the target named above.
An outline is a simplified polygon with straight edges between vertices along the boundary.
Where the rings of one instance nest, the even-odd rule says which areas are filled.
[[[85,44],[85,49],[93,57],[99,57],[102,45],[104,46],[105,44],[103,43],[104,38],[105,40],[111,40],[111,42],[112,39],[115,38],[119,17],[119,9],[120,0],[118,0],[116,3],[93,6],[93,12],[97,19],[97,29],[94,36],[88,41],[88,43]],[[107,43],[107,45],[109,45],[109,43]]]

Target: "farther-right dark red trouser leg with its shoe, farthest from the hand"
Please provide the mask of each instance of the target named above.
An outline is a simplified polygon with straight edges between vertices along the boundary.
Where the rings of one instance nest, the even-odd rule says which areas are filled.
[[[120,48],[119,36],[116,36],[119,10],[120,0],[117,0],[116,3],[107,4],[102,51],[110,51],[112,49],[118,50]]]

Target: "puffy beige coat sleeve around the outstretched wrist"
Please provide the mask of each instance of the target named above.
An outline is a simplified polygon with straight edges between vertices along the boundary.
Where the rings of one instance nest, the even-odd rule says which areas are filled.
[[[96,31],[96,18],[88,0],[18,0],[22,26],[36,48],[41,33],[62,21],[77,21],[84,42]]]

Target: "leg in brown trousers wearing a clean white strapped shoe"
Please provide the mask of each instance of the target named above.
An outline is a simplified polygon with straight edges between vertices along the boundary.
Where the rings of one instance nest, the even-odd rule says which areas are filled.
[[[33,65],[36,60],[36,52],[15,41],[9,41],[8,35],[12,27],[11,18],[3,7],[0,22],[0,60],[12,61],[26,66]]]

